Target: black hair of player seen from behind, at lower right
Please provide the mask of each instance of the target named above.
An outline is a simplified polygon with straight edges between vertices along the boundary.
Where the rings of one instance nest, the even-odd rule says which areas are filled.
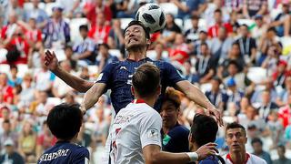
[[[217,130],[215,118],[198,114],[193,118],[190,132],[197,146],[201,147],[208,142],[216,141]]]

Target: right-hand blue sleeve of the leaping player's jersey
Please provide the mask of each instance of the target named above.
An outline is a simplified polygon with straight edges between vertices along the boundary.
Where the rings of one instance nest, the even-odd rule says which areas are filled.
[[[165,68],[166,75],[164,78],[168,81],[170,87],[174,87],[177,82],[185,80],[173,65],[165,62]]]

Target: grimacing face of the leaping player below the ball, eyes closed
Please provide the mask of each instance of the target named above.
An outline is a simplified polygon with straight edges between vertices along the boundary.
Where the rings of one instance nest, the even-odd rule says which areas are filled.
[[[125,48],[127,50],[147,46],[146,33],[142,26],[129,26],[125,31]]]

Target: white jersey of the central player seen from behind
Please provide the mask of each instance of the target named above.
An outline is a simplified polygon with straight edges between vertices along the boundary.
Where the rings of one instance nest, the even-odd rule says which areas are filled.
[[[162,147],[162,118],[142,100],[135,100],[115,117],[111,135],[111,163],[145,163],[143,148]]]

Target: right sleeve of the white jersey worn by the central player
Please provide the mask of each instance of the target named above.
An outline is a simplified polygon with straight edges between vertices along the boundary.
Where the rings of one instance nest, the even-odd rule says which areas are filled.
[[[141,120],[139,132],[142,148],[145,148],[147,145],[158,145],[162,148],[162,118],[160,115],[153,109],[151,113],[146,113],[145,117]]]

